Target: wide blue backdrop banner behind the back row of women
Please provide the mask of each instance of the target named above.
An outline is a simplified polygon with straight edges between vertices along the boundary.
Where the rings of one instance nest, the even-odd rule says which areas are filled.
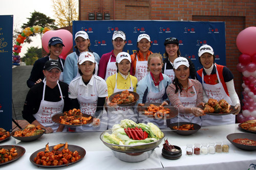
[[[181,56],[189,57],[196,69],[202,68],[198,62],[198,49],[203,44],[214,48],[216,63],[226,65],[225,22],[199,21],[159,21],[159,20],[93,20],[73,21],[73,37],[77,31],[86,31],[89,35],[90,48],[100,57],[113,50],[114,31],[123,31],[126,35],[124,52],[130,55],[137,51],[137,38],[148,34],[151,38],[153,53],[164,56],[164,40],[176,37],[179,40]],[[73,42],[75,45],[75,41]]]

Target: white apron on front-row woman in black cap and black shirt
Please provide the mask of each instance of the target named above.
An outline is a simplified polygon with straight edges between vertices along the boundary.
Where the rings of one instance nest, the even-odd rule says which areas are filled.
[[[57,82],[57,85],[59,87],[59,92],[61,95],[61,100],[59,102],[45,101],[46,79],[44,79],[43,82],[45,84],[44,84],[44,91],[42,92],[42,100],[41,100],[38,112],[34,114],[34,117],[42,126],[51,127],[53,131],[56,132],[59,125],[52,121],[52,116],[58,113],[62,113],[62,110],[64,107],[62,92],[61,92],[59,83]]]

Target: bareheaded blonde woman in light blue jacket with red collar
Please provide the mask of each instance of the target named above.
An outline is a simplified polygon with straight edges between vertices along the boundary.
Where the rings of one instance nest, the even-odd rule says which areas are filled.
[[[162,74],[162,55],[158,53],[151,54],[148,57],[147,63],[150,73],[138,82],[136,91],[140,98],[137,103],[139,106],[143,106],[144,103],[162,103],[162,105],[168,105],[169,101],[165,90],[170,83],[170,79],[168,76]],[[160,129],[167,128],[165,120],[156,120],[141,114],[139,114],[138,120],[140,123],[154,122]]]

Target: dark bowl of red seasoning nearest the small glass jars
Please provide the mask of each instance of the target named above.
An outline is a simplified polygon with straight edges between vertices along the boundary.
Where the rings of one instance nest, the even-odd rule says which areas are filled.
[[[227,139],[237,148],[245,151],[255,151],[256,146],[250,146],[250,145],[245,145],[245,144],[239,144],[236,142],[233,142],[234,139],[239,139],[239,138],[247,138],[251,140],[256,140],[256,135],[254,134],[248,134],[248,133],[231,133],[227,135]]]

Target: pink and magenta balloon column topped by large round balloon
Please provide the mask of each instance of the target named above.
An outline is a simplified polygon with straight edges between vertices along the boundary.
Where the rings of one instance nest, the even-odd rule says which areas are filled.
[[[237,65],[243,75],[243,107],[238,122],[256,119],[256,27],[248,27],[237,36],[237,47],[242,53]]]

